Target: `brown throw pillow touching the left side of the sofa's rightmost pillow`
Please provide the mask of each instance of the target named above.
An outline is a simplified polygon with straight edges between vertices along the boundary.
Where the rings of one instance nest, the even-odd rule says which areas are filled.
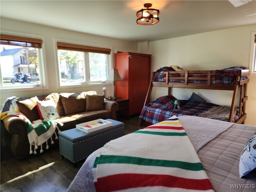
[[[61,93],[60,100],[64,108],[65,115],[85,111],[86,98],[83,93]]]

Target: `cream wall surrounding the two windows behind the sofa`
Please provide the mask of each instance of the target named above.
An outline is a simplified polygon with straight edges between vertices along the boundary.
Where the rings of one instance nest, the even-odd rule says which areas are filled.
[[[80,42],[81,44],[86,44],[90,46],[102,46],[112,49],[112,67],[114,67],[114,53],[117,51],[129,51],[138,52],[138,44],[136,42],[129,42],[114,38],[106,38],[102,36],[96,36],[92,34],[85,34],[80,32],[74,32],[71,30],[64,30],[60,28],[54,28],[50,26],[43,26],[38,24],[32,24],[28,22],[22,22],[18,20],[11,20],[7,18],[0,18],[1,23],[1,33],[2,34],[31,34],[31,37],[42,37],[43,38],[43,52],[44,52],[44,62],[46,64],[46,74],[47,74],[47,86],[41,90],[30,90],[30,91],[20,91],[20,90],[1,90],[0,92],[0,107],[6,98],[10,96],[16,97],[28,97],[42,94],[49,94],[52,92],[82,92],[88,90],[95,90],[98,94],[103,94],[102,88],[106,87],[106,95],[113,95],[114,87],[112,83],[91,85],[91,86],[80,86],[80,87],[70,87],[70,88],[58,88],[57,86],[57,66],[58,59],[56,54],[56,44],[54,39],[61,39],[65,41]]]

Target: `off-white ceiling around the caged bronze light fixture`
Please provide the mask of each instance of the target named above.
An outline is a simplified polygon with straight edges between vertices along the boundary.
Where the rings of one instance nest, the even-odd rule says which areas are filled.
[[[159,23],[136,23],[144,3],[160,10]],[[228,0],[0,0],[0,16],[144,42],[256,24],[256,0],[237,7]]]

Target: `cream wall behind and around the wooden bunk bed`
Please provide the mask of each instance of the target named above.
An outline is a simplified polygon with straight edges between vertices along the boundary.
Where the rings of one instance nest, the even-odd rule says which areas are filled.
[[[178,38],[139,43],[139,52],[152,54],[152,71],[178,65],[184,70],[216,70],[231,66],[249,68],[251,34],[256,25],[218,30]],[[256,125],[256,74],[250,75],[246,123]],[[190,98],[195,92],[208,102],[229,105],[232,91],[172,89],[178,99]],[[153,88],[151,100],[167,95],[167,88]]]

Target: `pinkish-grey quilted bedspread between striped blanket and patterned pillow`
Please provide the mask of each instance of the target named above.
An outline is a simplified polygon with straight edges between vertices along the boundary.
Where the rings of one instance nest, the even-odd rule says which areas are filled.
[[[256,179],[239,178],[240,153],[255,126],[234,124],[198,151],[216,192],[255,192]]]

